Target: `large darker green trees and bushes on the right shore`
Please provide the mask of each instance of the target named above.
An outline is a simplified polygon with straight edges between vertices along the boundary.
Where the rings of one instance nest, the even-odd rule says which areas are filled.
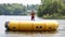
[[[64,0],[41,0],[41,3],[37,12],[39,17],[65,16]]]

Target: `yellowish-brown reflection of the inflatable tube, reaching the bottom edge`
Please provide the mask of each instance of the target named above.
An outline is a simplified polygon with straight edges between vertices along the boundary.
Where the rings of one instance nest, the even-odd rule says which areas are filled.
[[[48,35],[55,35],[54,32],[5,32],[5,37],[47,37]]]

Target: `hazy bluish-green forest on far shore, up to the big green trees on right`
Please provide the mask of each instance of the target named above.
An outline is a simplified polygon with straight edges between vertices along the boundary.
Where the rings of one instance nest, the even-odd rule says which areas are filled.
[[[0,4],[0,15],[27,15],[27,10],[37,10],[37,8],[38,4],[3,3]]]

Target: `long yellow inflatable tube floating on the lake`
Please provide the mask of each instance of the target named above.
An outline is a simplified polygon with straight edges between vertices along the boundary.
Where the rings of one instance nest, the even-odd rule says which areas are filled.
[[[5,23],[5,27],[11,30],[56,30],[58,23],[56,21],[10,21]]]

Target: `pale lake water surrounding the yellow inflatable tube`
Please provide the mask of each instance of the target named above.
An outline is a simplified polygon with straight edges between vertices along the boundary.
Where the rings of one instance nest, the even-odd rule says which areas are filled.
[[[4,16],[0,15],[0,37],[64,37],[65,20],[44,20],[35,17],[35,21],[57,21],[60,26],[55,32],[5,32],[4,24],[6,21],[30,21],[30,16]]]

